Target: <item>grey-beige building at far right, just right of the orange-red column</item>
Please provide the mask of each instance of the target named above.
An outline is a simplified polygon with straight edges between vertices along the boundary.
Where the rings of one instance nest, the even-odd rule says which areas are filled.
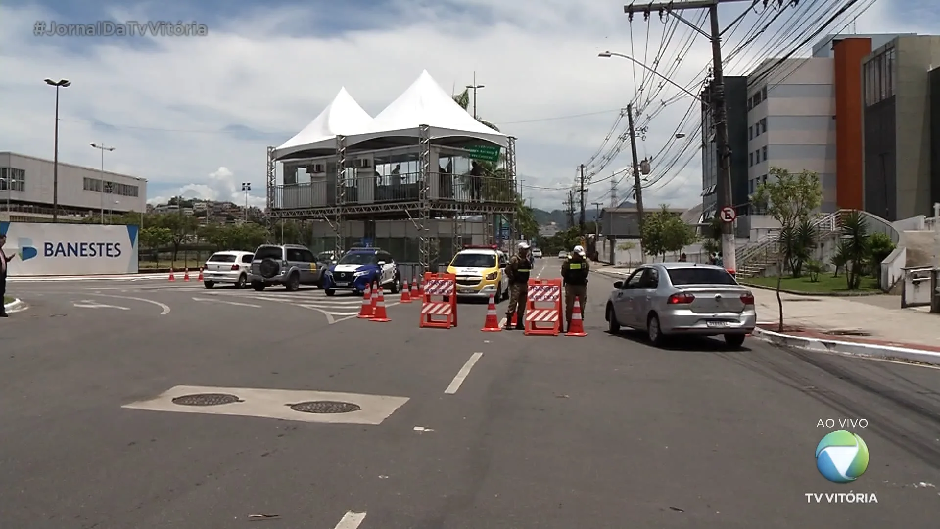
[[[862,63],[865,211],[899,220],[932,216],[940,182],[932,172],[931,71],[940,37],[902,35]],[[935,77],[935,75],[933,75]]]

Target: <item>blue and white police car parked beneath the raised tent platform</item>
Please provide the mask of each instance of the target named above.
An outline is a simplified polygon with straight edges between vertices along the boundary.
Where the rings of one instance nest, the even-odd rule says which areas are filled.
[[[323,274],[323,292],[337,290],[363,294],[369,284],[381,284],[391,294],[401,290],[401,275],[395,259],[382,248],[352,248]]]

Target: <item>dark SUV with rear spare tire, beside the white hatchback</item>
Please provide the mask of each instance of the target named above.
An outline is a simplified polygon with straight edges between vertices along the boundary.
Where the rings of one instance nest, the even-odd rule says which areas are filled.
[[[251,287],[258,292],[282,284],[291,292],[302,284],[319,285],[323,266],[313,252],[298,245],[261,245],[251,262]]]

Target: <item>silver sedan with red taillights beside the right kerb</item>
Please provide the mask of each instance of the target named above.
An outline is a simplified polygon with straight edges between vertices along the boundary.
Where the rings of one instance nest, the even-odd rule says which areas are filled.
[[[654,345],[663,345],[669,335],[721,334],[728,345],[740,346],[758,315],[754,295],[724,268],[656,263],[614,283],[604,319],[614,333],[621,326],[645,329]]]

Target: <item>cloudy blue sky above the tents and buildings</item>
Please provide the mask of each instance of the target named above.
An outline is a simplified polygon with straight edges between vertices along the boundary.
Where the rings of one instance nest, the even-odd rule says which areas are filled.
[[[241,201],[241,183],[252,182],[251,201],[263,203],[265,147],[302,129],[340,87],[374,116],[424,69],[447,91],[471,83],[477,72],[487,86],[479,92],[479,114],[519,137],[518,169],[533,185],[526,195],[539,207],[559,208],[575,168],[598,150],[635,88],[627,61],[597,54],[642,58],[649,33],[651,62],[664,31],[655,16],[649,24],[642,17],[628,23],[622,6],[615,0],[4,4],[0,56],[7,74],[0,78],[0,98],[12,103],[6,112],[16,126],[0,130],[0,150],[52,156],[55,95],[41,80],[68,78],[73,85],[62,92],[60,159],[97,167],[100,152],[88,143],[102,141],[117,147],[107,155],[107,168],[147,178],[151,199],[184,192]],[[882,0],[859,19],[857,30],[936,33],[930,6],[926,0]],[[742,9],[723,9],[723,20]],[[745,18],[742,35],[758,16]],[[33,35],[36,21],[98,20],[197,22],[209,27],[209,36]],[[677,33],[664,69],[679,55],[686,33]],[[740,38],[732,33],[729,45]],[[670,75],[683,86],[699,79],[709,62],[707,41],[697,39]],[[772,40],[759,40],[736,57],[731,73],[743,73],[775,49],[787,50],[785,42],[774,48]],[[670,146],[661,155],[667,165],[682,151],[669,137],[691,103],[671,87],[650,101],[648,117],[639,118],[647,130],[641,157]],[[691,137],[696,127],[689,122],[681,132]],[[626,166],[628,156],[629,150],[620,152],[599,174]],[[682,170],[674,165],[668,184],[650,188],[648,201],[688,206],[698,200],[698,156],[694,149],[682,156],[690,163]],[[597,161],[592,165],[597,168]],[[588,199],[603,200],[607,190],[595,185]]]

